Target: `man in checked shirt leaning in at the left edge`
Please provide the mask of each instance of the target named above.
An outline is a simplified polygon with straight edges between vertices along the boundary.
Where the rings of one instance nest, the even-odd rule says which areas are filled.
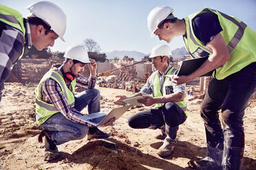
[[[52,2],[40,1],[28,5],[30,14],[26,19],[21,13],[0,5],[0,101],[12,66],[34,45],[41,51],[53,46],[66,30],[66,16],[63,10]]]

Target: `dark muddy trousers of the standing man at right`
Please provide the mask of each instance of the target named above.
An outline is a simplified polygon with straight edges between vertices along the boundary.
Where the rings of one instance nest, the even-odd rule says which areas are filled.
[[[256,89],[256,62],[224,80],[213,79],[201,105],[209,154],[223,149],[222,169],[240,169],[244,154],[244,110]],[[218,111],[221,109],[222,125]]]

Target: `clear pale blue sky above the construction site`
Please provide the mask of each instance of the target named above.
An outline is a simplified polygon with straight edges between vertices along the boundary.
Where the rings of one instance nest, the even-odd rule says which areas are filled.
[[[52,51],[65,51],[67,47],[81,44],[92,38],[100,45],[100,52],[114,50],[140,51],[150,53],[159,43],[155,36],[150,38],[147,15],[159,6],[167,5],[175,9],[179,19],[198,12],[202,8],[213,8],[241,19],[256,31],[255,0],[48,0],[60,6],[67,15],[65,41],[56,40]],[[25,9],[34,0],[1,0],[2,5],[14,8],[28,15]],[[182,37],[169,43],[171,49],[183,46]]]

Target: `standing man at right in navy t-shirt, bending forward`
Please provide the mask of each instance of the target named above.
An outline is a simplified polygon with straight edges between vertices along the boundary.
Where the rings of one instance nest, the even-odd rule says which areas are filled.
[[[159,6],[147,18],[151,36],[171,42],[183,36],[191,57],[209,58],[190,75],[175,76],[184,84],[213,71],[201,117],[204,120],[208,155],[189,161],[193,169],[240,169],[244,154],[244,110],[256,89],[256,34],[239,19],[204,8],[177,19],[173,9]],[[223,130],[218,111],[222,109]]]

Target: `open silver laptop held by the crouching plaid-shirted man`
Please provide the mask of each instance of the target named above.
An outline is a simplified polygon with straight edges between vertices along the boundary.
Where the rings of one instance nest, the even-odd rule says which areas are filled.
[[[103,112],[94,112],[92,114],[85,114],[82,117],[78,117],[78,119],[81,119],[95,126],[104,125],[114,117],[116,117],[116,119],[119,119],[122,116],[122,114],[124,114],[130,107],[131,105],[122,106],[120,108],[114,108],[109,112],[109,114],[105,114]]]

